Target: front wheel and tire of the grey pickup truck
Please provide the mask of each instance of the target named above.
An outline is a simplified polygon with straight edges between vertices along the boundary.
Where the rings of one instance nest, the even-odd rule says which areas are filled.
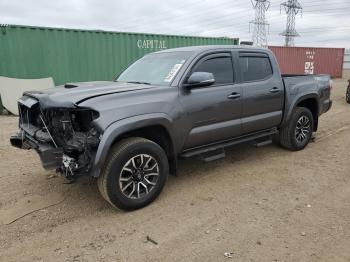
[[[132,137],[112,147],[97,183],[112,206],[135,210],[157,198],[168,174],[164,150],[148,139]]]

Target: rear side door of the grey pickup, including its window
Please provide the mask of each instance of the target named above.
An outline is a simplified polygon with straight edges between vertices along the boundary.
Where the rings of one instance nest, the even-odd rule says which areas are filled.
[[[284,87],[278,68],[264,52],[239,53],[245,134],[278,126],[282,121]],[[275,72],[274,72],[275,71]]]

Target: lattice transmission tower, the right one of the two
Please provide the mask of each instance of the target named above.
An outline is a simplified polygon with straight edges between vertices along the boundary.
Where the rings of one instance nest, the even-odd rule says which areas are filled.
[[[285,46],[294,46],[294,38],[300,36],[295,30],[295,16],[301,13],[303,8],[298,0],[288,0],[281,4],[282,7],[287,13],[287,26],[281,35],[285,37]]]

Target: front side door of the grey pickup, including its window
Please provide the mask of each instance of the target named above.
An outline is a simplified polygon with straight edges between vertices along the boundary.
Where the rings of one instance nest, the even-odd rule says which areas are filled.
[[[186,114],[189,135],[185,149],[218,142],[242,134],[242,89],[235,85],[231,52],[210,54],[201,58],[193,72],[214,75],[211,86],[188,88],[180,98]]]

